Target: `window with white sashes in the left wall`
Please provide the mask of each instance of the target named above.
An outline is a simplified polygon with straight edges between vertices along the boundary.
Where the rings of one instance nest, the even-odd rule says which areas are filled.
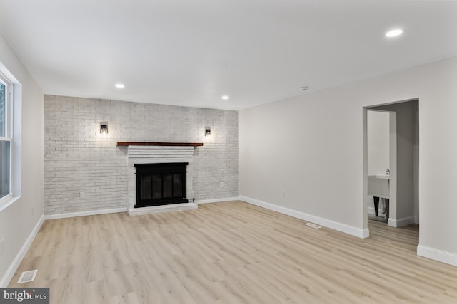
[[[12,85],[0,75],[0,202],[11,193],[11,91]]]

